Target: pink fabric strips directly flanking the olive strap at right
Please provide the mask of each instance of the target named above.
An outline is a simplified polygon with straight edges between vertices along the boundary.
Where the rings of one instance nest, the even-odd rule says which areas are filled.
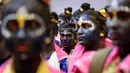
[[[95,52],[89,51],[86,52],[78,61],[74,63],[73,72],[76,73],[76,71],[79,71],[78,73],[89,73],[90,64],[93,59]],[[114,58],[118,56],[118,48],[114,47],[112,52],[110,53],[109,57],[107,58],[104,68],[107,68],[108,65],[113,61]]]

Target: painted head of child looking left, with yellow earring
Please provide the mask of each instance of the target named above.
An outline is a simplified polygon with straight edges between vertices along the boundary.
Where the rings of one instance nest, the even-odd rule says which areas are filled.
[[[92,14],[94,12],[95,14]],[[96,11],[82,13],[76,25],[78,42],[87,47],[87,50],[110,47],[112,44],[107,44],[105,28],[105,19]]]

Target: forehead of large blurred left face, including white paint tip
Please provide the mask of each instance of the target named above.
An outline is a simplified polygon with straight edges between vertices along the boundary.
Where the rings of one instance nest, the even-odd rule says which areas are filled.
[[[19,13],[19,15],[23,15],[23,13],[33,13],[42,18],[46,24],[49,24],[49,6],[46,6],[39,0],[12,0],[10,3],[4,6],[2,19],[10,14],[17,13]]]

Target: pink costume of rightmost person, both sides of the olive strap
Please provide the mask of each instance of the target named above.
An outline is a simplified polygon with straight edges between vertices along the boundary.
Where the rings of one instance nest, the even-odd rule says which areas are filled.
[[[119,58],[118,55],[118,47],[113,47],[112,52],[109,54],[109,56],[106,59],[106,62],[104,64],[103,73],[110,73],[109,69],[112,69],[111,67],[112,63]],[[92,61],[92,58],[94,56],[94,52],[89,51],[86,52],[78,61],[74,63],[74,70],[71,73],[89,73],[90,64]],[[116,66],[114,66],[115,69],[111,71],[111,73],[120,73],[120,70],[125,72],[130,72],[130,55],[128,55],[124,60],[120,61],[120,59],[117,59],[117,63],[115,63]]]

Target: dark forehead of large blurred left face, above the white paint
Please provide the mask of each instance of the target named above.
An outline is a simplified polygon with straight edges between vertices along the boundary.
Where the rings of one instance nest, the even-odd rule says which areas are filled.
[[[4,14],[16,13],[21,7],[25,7],[29,13],[37,13],[40,15],[42,15],[40,12],[44,13],[48,10],[47,6],[40,3],[39,0],[12,0],[5,5]]]

